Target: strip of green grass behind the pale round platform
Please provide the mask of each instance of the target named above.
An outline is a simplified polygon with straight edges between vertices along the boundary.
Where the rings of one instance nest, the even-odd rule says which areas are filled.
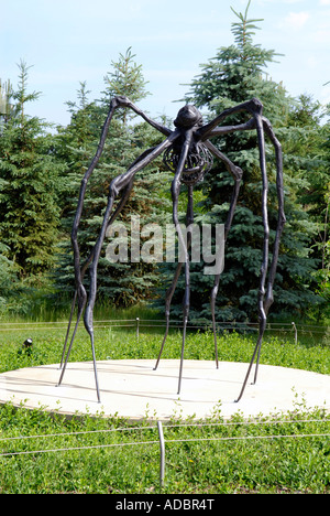
[[[96,324],[97,359],[155,358],[162,343],[164,327],[140,325],[139,337],[134,320],[133,326],[119,327],[106,323]],[[123,322],[124,324],[124,322]],[[131,323],[129,323],[131,324]],[[148,322],[145,322],[148,324]],[[153,324],[153,321],[150,321]],[[61,359],[66,323],[6,324],[0,326],[0,372],[28,365],[54,364]],[[33,340],[33,352],[22,352],[22,344]],[[182,346],[180,330],[169,332],[164,358],[179,358]],[[249,362],[255,346],[254,335],[240,335],[224,332],[218,336],[219,359],[228,362]],[[215,359],[213,335],[209,331],[190,331],[187,334],[185,357],[187,359]],[[79,326],[70,361],[91,359],[89,336]],[[261,362],[268,365],[295,367],[330,374],[330,346],[322,341],[318,344],[298,342],[266,335],[262,347]]]

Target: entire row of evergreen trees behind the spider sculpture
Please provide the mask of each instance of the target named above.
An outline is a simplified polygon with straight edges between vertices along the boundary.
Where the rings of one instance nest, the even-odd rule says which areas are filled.
[[[323,108],[308,95],[290,98],[282,83],[272,80],[266,68],[277,55],[253,41],[260,19],[232,9],[234,44],[220,47],[217,55],[201,65],[185,100],[204,109],[205,120],[223,109],[261,98],[264,114],[282,142],[285,165],[285,211],[287,224],[282,239],[278,273],[275,281],[274,316],[295,313],[321,318],[329,307],[329,121]],[[50,126],[28,115],[26,106],[38,93],[28,88],[29,67],[20,64],[19,86],[0,84],[0,298],[1,311],[33,313],[44,310],[52,284],[56,308],[67,305],[73,294],[74,273],[70,229],[80,181],[96,152],[100,131],[113,95],[125,95],[139,105],[145,98],[146,83],[142,66],[131,47],[111,62],[105,77],[101,98],[90,100],[81,82],[76,101],[68,101],[72,119],[67,127],[51,135]],[[226,123],[246,120],[246,115],[231,117]],[[166,125],[170,121],[166,120]],[[94,246],[107,205],[111,180],[163,136],[130,110],[119,110],[111,122],[109,138],[99,165],[90,179],[81,224],[79,245],[82,259]],[[263,225],[261,217],[261,174],[255,131],[232,133],[215,141],[217,147],[243,170],[243,183],[233,226],[226,250],[226,269],[218,295],[218,319],[256,318],[258,268],[262,261]],[[270,178],[268,211],[271,245],[276,227],[274,149],[266,141]],[[170,222],[169,184],[161,159],[135,176],[130,201],[118,222],[130,234],[131,215],[146,223],[164,226]],[[223,223],[229,209],[233,180],[216,160],[213,170],[194,192],[196,222]],[[185,189],[179,198],[185,219]],[[105,249],[98,269],[100,302],[132,307],[141,301],[164,299],[175,265],[109,264]],[[130,243],[129,243],[130,246]],[[130,257],[130,247],[129,247]],[[271,256],[272,258],[272,256]],[[209,293],[212,278],[202,273],[205,264],[191,266],[191,316],[210,318]],[[38,291],[38,292],[37,292]],[[18,295],[20,293],[20,295]],[[42,301],[44,295],[44,301]],[[183,277],[174,310],[180,315]],[[163,307],[162,301],[162,307]],[[21,307],[20,307],[21,305]]]

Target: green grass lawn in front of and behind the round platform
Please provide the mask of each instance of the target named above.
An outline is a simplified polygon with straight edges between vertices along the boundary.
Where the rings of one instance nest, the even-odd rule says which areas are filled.
[[[61,359],[65,327],[40,326],[16,324],[0,332],[0,372]],[[97,327],[97,359],[155,358],[162,335],[163,330],[141,327],[138,340],[135,329]],[[31,355],[22,352],[28,336],[33,338]],[[249,362],[254,345],[255,336],[227,333],[219,336],[219,358]],[[180,334],[174,330],[164,358],[179,354]],[[212,334],[189,332],[185,357],[213,359]],[[90,344],[81,329],[70,361],[89,359]],[[330,346],[324,338],[295,344],[292,336],[267,336],[261,362],[330,374]],[[288,413],[261,415],[258,424],[249,424],[239,411],[223,424],[221,408],[204,421],[208,426],[173,418],[173,426],[164,427],[163,492],[330,493],[329,421],[328,413],[306,407],[304,399]],[[88,415],[64,419],[7,404],[0,408],[0,493],[158,493],[160,445],[156,427],[150,427],[147,421],[132,426]],[[300,437],[280,438],[293,434]],[[37,453],[43,450],[62,451]],[[25,454],[14,454],[19,452]]]

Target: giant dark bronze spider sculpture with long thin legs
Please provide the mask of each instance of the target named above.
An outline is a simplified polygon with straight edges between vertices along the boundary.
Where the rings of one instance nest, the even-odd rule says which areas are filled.
[[[99,237],[96,241],[95,247],[92,248],[89,257],[81,264],[80,261],[80,250],[78,245],[78,228],[81,219],[82,205],[85,193],[87,189],[88,180],[94,172],[99,158],[102,153],[102,149],[106,142],[108,135],[109,126],[113,114],[119,108],[129,108],[132,109],[136,115],[140,115],[147,123],[150,123],[157,131],[163,133],[166,138],[158,146],[147,149],[143,152],[128,169],[127,172],[114,178],[110,184],[108,205],[103,216],[103,222]],[[230,115],[245,111],[250,115],[250,119],[245,123],[239,123],[235,126],[220,126],[220,123]],[[113,223],[117,216],[120,214],[121,209],[125,205],[130,193],[133,187],[134,176],[138,171],[144,169],[150,164],[155,158],[164,152],[164,162],[167,166],[174,172],[174,179],[172,181],[170,192],[173,200],[173,222],[177,229],[178,238],[182,244],[185,246],[185,294],[183,300],[183,315],[184,315],[184,329],[183,329],[183,344],[182,344],[182,357],[180,357],[180,367],[179,367],[179,380],[178,380],[178,394],[180,391],[182,385],[182,374],[183,374],[183,363],[184,363],[184,348],[186,340],[186,327],[188,321],[189,312],[189,294],[190,294],[190,276],[189,276],[189,254],[188,249],[191,244],[191,238],[189,238],[189,233],[187,233],[186,244],[183,239],[182,228],[178,221],[178,197],[180,192],[182,184],[187,185],[188,189],[188,206],[187,206],[187,218],[186,224],[187,228],[194,221],[194,211],[193,211],[193,189],[194,186],[204,179],[205,174],[212,166],[212,158],[216,157],[220,159],[228,171],[231,173],[234,180],[234,186],[230,203],[230,208],[228,212],[228,217],[224,224],[224,241],[227,239],[228,233],[230,230],[232,219],[234,216],[234,211],[238,202],[240,183],[243,175],[242,170],[239,166],[235,166],[222,152],[220,152],[211,142],[210,139],[213,137],[219,137],[221,135],[228,135],[235,131],[246,131],[256,129],[258,151],[260,151],[260,168],[262,174],[262,214],[263,214],[263,226],[264,226],[264,244],[263,244],[263,260],[261,266],[260,273],[260,290],[258,290],[258,337],[257,342],[248,368],[245,379],[242,385],[241,393],[237,399],[239,401],[244,393],[251,368],[254,364],[255,357],[255,375],[254,383],[257,377],[257,368],[260,362],[260,353],[262,346],[262,340],[264,331],[266,327],[266,320],[270,307],[273,302],[273,284],[275,280],[277,259],[278,259],[278,249],[279,240],[285,224],[285,214],[284,214],[284,189],[283,189],[283,159],[282,159],[282,147],[277,140],[271,122],[263,116],[263,105],[256,99],[252,98],[251,100],[234,106],[232,108],[226,109],[219,116],[217,116],[209,123],[204,125],[202,117],[198,109],[195,106],[186,105],[183,107],[177,115],[176,120],[174,121],[175,129],[170,130],[163,125],[152,120],[146,114],[144,114],[139,107],[134,106],[130,99],[127,97],[114,97],[110,103],[110,109],[105,122],[100,142],[97,149],[97,152],[81,181],[79,201],[77,206],[76,216],[73,224],[72,230],[72,244],[74,249],[74,267],[75,267],[75,295],[72,305],[72,313],[68,322],[67,334],[65,338],[61,368],[62,374],[58,381],[61,385],[66,365],[69,358],[72,346],[75,340],[77,332],[78,323],[84,313],[84,323],[85,327],[90,336],[91,350],[92,350],[92,359],[94,359],[94,370],[95,370],[95,380],[98,401],[100,402],[100,391],[98,385],[98,375],[97,375],[97,364],[95,355],[95,336],[94,336],[94,307],[97,295],[97,267],[105,240],[105,236],[109,226]],[[278,200],[278,218],[277,218],[277,228],[276,236],[273,248],[273,257],[268,270],[268,245],[270,245],[270,226],[268,226],[268,215],[267,215],[267,191],[268,191],[268,180],[266,174],[266,159],[265,159],[265,141],[264,133],[266,133],[274,146],[275,157],[276,157],[276,187],[277,187],[277,200]],[[116,209],[113,211],[113,202],[116,197],[120,195],[120,200]],[[85,273],[89,267],[90,273],[90,283],[89,292],[87,294],[86,289],[82,284]],[[166,305],[166,331],[165,336],[162,343],[161,352],[156,362],[155,368],[158,366],[161,355],[164,348],[164,344],[168,334],[169,329],[169,308],[170,301],[182,271],[183,264],[178,262],[174,280],[172,286],[166,292],[165,295],[165,305]],[[212,325],[213,325],[213,335],[215,335],[215,347],[216,347],[216,364],[218,367],[218,350],[217,350],[217,335],[216,335],[216,298],[219,289],[220,275],[215,276],[215,283],[211,291],[211,312],[212,312]],[[77,321],[70,338],[70,344],[66,353],[66,347],[68,343],[68,336],[70,332],[72,320],[74,315],[75,305],[77,303]],[[65,357],[66,354],[66,357]]]

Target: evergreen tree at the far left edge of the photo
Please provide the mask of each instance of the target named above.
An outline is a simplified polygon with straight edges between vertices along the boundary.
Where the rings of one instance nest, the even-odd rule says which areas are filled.
[[[14,109],[0,137],[0,241],[22,278],[43,273],[54,262],[57,241],[57,176],[53,137],[46,125],[26,114],[38,98],[28,92],[29,67],[19,65]]]

